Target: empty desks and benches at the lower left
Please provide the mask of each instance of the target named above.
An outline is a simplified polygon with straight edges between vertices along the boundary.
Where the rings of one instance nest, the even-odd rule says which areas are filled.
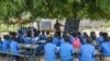
[[[42,40],[42,41],[38,41],[38,44],[42,44],[44,45],[46,41]],[[22,53],[12,53],[12,52],[4,52],[4,51],[0,51],[0,53],[2,54],[7,54],[7,57],[10,57],[10,56],[18,56],[18,57],[21,57],[21,58],[28,58],[26,61],[35,61],[35,50],[41,46],[41,45],[28,45],[28,44],[19,44],[20,45],[20,49],[21,49],[21,52],[22,52],[22,49],[31,49],[31,51],[34,53],[32,56],[26,56],[26,54],[22,54]],[[25,52],[26,50],[23,50],[23,52]],[[31,58],[29,60],[29,57]],[[10,57],[12,58],[12,57]],[[10,60],[8,60],[10,61]],[[12,61],[12,60],[11,60]]]

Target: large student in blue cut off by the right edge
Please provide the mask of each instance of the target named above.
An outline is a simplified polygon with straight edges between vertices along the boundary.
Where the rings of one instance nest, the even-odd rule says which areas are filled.
[[[100,46],[103,56],[103,61],[110,61],[110,39],[107,33],[103,33],[103,42]]]

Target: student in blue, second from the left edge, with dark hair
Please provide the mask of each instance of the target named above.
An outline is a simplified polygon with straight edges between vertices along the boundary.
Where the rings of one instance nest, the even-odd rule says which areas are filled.
[[[8,52],[9,49],[10,49],[10,40],[9,40],[9,36],[8,35],[4,35],[3,36],[3,51]]]

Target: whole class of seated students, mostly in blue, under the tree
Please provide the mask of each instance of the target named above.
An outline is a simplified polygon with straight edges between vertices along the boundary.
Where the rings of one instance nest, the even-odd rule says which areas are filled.
[[[20,44],[38,45],[41,40],[46,40],[43,46],[45,61],[57,61],[57,58],[61,61],[73,61],[75,58],[97,61],[97,51],[102,56],[100,61],[110,61],[110,37],[106,32],[100,32],[98,37],[95,32],[90,32],[90,36],[80,32],[64,32],[61,36],[57,33],[51,35],[48,30],[10,32],[3,39],[0,38],[0,51],[20,53]]]

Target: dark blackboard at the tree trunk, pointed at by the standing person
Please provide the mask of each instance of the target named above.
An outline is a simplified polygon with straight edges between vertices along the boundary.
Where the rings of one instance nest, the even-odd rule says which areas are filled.
[[[73,32],[78,32],[79,23],[80,23],[80,20],[78,19],[74,19],[74,17],[67,19],[65,23],[65,32],[68,34]]]

